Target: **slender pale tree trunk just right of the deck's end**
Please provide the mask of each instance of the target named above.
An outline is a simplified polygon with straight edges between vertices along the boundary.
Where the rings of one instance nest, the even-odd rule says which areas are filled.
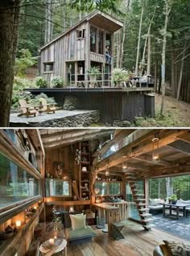
[[[166,17],[165,17],[165,25],[164,25],[164,31],[163,31],[163,55],[162,55],[162,103],[161,103],[161,109],[160,109],[160,115],[163,115],[164,111],[164,99],[165,99],[165,91],[166,91],[166,85],[165,85],[165,79],[166,79],[166,46],[167,46],[167,24],[169,20],[169,15],[171,12],[171,4],[169,0],[166,0]]]

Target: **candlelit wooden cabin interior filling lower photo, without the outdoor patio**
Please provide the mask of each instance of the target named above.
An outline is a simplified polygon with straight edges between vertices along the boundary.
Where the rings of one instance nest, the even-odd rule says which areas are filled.
[[[148,256],[162,240],[189,244],[151,228],[148,213],[148,179],[190,174],[189,153],[189,129],[0,130],[0,255]],[[93,238],[71,244],[75,213]]]

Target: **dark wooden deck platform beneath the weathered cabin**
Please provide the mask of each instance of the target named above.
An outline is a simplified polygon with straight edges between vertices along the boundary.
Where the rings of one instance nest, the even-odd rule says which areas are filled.
[[[77,109],[97,110],[101,122],[113,124],[114,120],[133,122],[136,116],[155,117],[155,95],[152,87],[136,88],[65,88],[65,89],[26,89],[31,94],[47,94],[63,106],[64,97],[75,96]]]

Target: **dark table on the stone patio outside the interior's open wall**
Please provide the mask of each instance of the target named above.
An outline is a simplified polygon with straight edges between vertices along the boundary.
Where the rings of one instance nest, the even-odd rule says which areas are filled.
[[[182,203],[177,203],[177,204],[163,204],[163,216],[176,216],[176,219],[180,219],[180,210],[183,212],[183,216],[186,217],[186,208],[190,206],[190,204],[182,204]],[[166,207],[169,207],[169,214],[166,215]],[[176,212],[176,214],[172,213],[172,210]]]

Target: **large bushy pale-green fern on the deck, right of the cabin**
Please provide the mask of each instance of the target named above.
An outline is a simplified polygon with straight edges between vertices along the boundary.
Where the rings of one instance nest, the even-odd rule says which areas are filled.
[[[130,74],[126,69],[114,69],[112,72],[112,80],[115,87],[121,88],[122,82],[128,81],[129,78]]]

